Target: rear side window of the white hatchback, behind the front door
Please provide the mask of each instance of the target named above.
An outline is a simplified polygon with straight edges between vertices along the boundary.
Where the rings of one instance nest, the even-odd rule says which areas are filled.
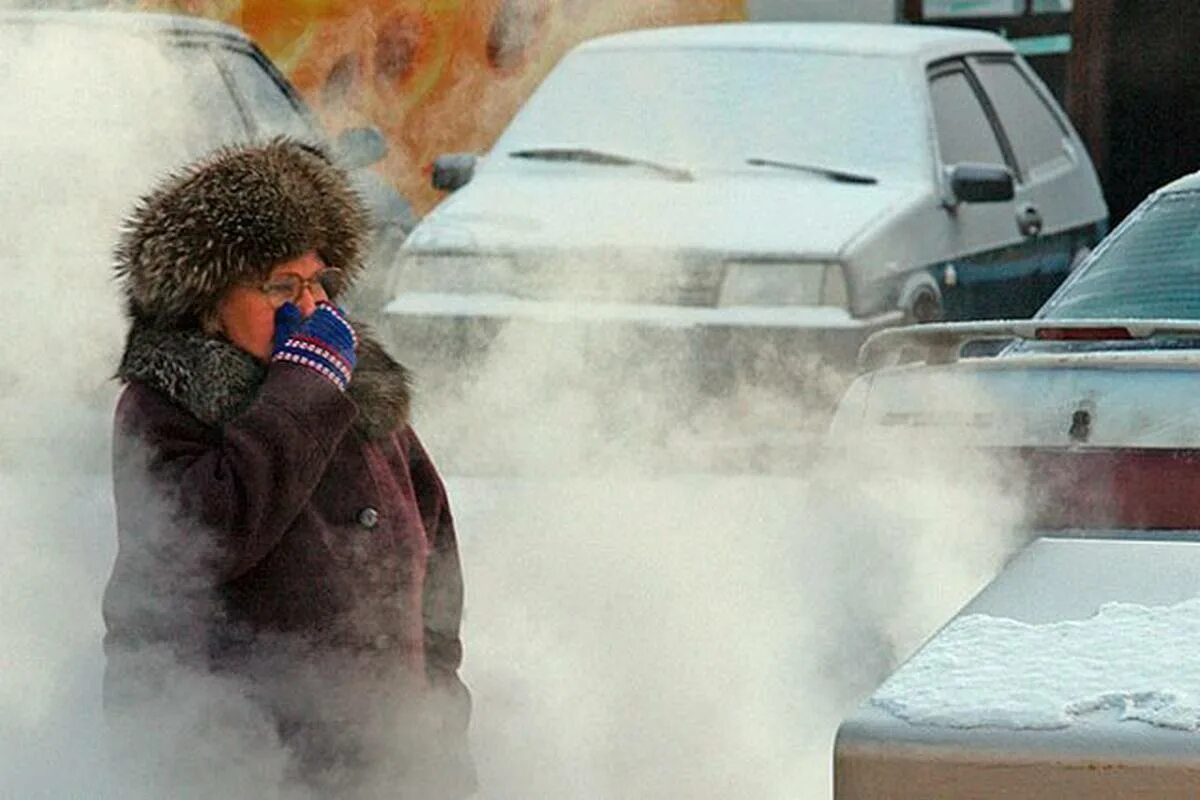
[[[1033,85],[1009,60],[986,60],[972,65],[988,100],[1000,116],[1021,175],[1066,161],[1067,132],[1038,96]]]

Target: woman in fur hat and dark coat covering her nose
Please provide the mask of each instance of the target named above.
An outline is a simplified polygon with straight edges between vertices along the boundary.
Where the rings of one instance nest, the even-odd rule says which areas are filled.
[[[152,726],[211,676],[311,786],[464,796],[445,489],[404,369],[334,305],[366,229],[347,176],[289,139],[217,152],[127,221],[106,708]]]

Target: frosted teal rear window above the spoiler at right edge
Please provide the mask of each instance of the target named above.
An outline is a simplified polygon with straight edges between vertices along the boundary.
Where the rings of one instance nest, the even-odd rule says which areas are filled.
[[[1200,319],[1200,192],[1153,200],[1039,315]]]

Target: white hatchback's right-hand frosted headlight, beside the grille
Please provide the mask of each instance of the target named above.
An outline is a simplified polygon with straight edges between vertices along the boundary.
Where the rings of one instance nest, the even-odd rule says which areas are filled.
[[[846,275],[827,261],[732,261],[718,305],[836,306],[848,301]]]

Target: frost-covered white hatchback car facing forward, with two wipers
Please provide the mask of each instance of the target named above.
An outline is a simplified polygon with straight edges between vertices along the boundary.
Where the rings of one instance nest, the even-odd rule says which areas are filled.
[[[904,320],[1032,314],[1108,213],[1004,40],[905,25],[594,40],[478,168],[444,158],[434,181],[461,188],[409,236],[385,308],[419,365],[514,320],[682,337],[719,369],[767,341],[847,362]]]

